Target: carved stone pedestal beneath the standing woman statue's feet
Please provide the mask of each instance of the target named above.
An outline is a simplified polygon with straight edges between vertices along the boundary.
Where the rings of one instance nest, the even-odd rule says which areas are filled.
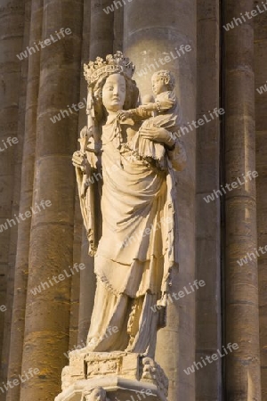
[[[93,397],[96,389],[106,396]],[[55,401],[166,401],[167,389],[166,374],[150,357],[84,348],[69,354]]]

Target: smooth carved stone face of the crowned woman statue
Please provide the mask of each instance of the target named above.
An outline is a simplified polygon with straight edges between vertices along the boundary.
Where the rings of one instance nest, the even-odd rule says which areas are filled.
[[[122,110],[125,104],[125,78],[120,74],[112,74],[107,78],[102,89],[102,102],[108,112]]]

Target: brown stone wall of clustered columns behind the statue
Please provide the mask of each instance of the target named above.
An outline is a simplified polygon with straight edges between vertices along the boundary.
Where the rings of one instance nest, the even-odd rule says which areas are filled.
[[[249,269],[236,263],[267,244],[267,92],[256,91],[267,79],[267,12],[226,32],[223,23],[261,2],[121,0],[114,12],[103,11],[112,4],[0,0],[0,144],[9,136],[19,140],[0,153],[0,225],[42,200],[53,203],[0,233],[0,306],[6,307],[0,312],[0,382],[30,367],[40,370],[21,387],[0,390],[0,400],[53,400],[68,364],[64,353],[84,343],[93,308],[93,260],[71,165],[85,109],[55,124],[50,118],[86,97],[84,62],[123,50],[145,93],[151,64],[190,45],[189,53],[166,65],[176,78],[184,123],[214,108],[227,112],[182,137],[188,166],[178,175],[181,266],[174,292],[195,279],[206,286],[169,307],[157,359],[170,379],[170,401],[267,401],[266,256],[258,258],[259,270],[257,260]],[[18,59],[61,28],[72,34]],[[149,73],[138,75],[145,68]],[[203,200],[254,167],[256,188]],[[32,294],[40,282],[80,262],[87,266],[80,274]],[[185,374],[230,341],[240,345],[236,356]]]

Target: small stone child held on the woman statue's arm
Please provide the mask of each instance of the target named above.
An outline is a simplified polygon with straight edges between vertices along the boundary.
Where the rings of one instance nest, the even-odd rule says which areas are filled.
[[[179,105],[174,94],[174,76],[170,71],[159,70],[152,76],[152,90],[155,95],[155,102],[146,102],[137,109],[120,110],[117,118],[121,121],[125,119],[142,119],[142,127],[137,132],[128,146],[142,159],[154,161],[159,168],[164,169],[165,146],[145,138],[141,132],[143,128],[163,127],[174,133],[179,128]]]

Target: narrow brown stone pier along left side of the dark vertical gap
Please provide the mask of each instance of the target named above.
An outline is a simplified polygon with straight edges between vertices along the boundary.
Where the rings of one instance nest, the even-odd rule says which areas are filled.
[[[208,45],[207,45],[208,44]],[[198,119],[208,122],[197,130],[197,279],[205,281],[196,293],[196,362],[222,348],[221,323],[221,210],[222,197],[204,197],[220,188],[220,4],[198,1]],[[207,364],[207,362],[205,362]],[[196,371],[196,400],[222,400],[222,361],[203,364]]]

